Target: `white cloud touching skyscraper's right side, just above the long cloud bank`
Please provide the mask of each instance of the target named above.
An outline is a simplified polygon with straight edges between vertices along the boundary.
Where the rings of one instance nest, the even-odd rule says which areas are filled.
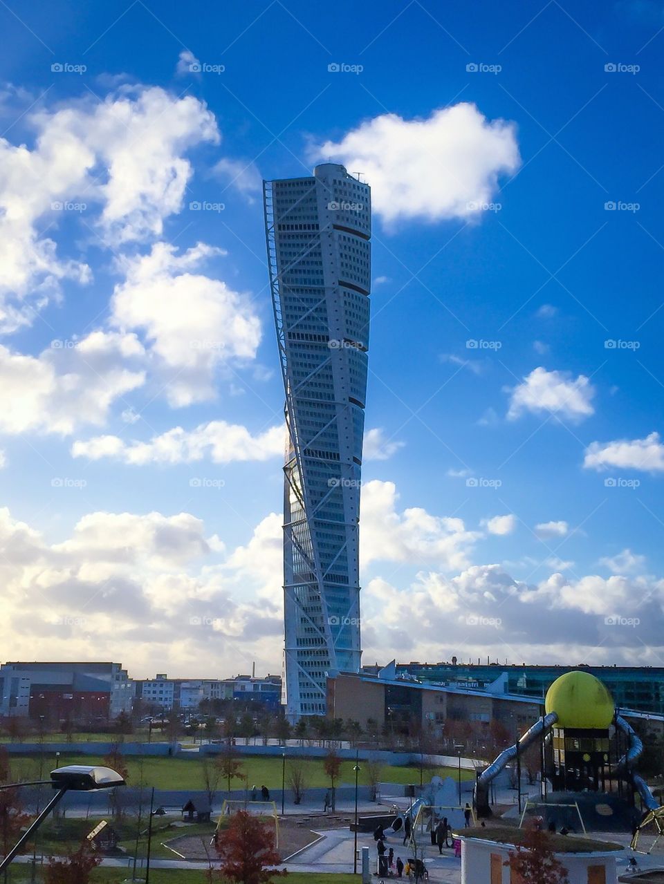
[[[431,515],[421,507],[397,511],[393,482],[375,479],[363,485],[360,560],[435,563],[449,570],[464,568],[471,545],[480,537],[462,519]]]

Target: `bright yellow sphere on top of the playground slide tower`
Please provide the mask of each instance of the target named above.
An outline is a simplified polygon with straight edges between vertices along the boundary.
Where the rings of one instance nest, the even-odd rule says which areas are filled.
[[[556,713],[558,728],[606,729],[614,718],[614,701],[589,672],[568,672],[546,691],[546,713]]]

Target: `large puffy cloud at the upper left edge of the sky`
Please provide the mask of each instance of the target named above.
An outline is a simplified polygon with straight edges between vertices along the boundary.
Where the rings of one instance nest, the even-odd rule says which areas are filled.
[[[88,282],[88,265],[58,255],[52,239],[64,217],[85,214],[111,246],[159,235],[192,173],[183,154],[218,140],[215,118],[192,96],[124,90],[34,111],[32,148],[0,138],[0,332],[30,324],[65,278]],[[46,216],[51,236],[39,232]]]

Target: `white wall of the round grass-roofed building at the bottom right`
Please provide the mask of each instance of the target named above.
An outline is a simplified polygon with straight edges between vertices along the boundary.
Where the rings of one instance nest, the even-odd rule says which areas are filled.
[[[510,848],[507,844],[480,841],[472,838],[462,840],[462,884],[493,884],[491,857],[500,857],[502,878],[500,884],[511,884],[509,869],[502,865]],[[568,870],[569,884],[588,884],[588,869],[593,865],[604,866],[607,884],[617,884],[615,853],[558,853],[556,858]]]

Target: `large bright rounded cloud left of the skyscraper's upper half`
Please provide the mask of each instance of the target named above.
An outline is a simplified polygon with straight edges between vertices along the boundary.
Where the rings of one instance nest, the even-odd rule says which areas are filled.
[[[148,255],[120,261],[126,278],[111,299],[111,324],[144,333],[172,406],[212,399],[215,371],[253,359],[261,339],[245,294],[192,272],[219,254],[198,243],[177,255],[175,247],[159,242]]]

